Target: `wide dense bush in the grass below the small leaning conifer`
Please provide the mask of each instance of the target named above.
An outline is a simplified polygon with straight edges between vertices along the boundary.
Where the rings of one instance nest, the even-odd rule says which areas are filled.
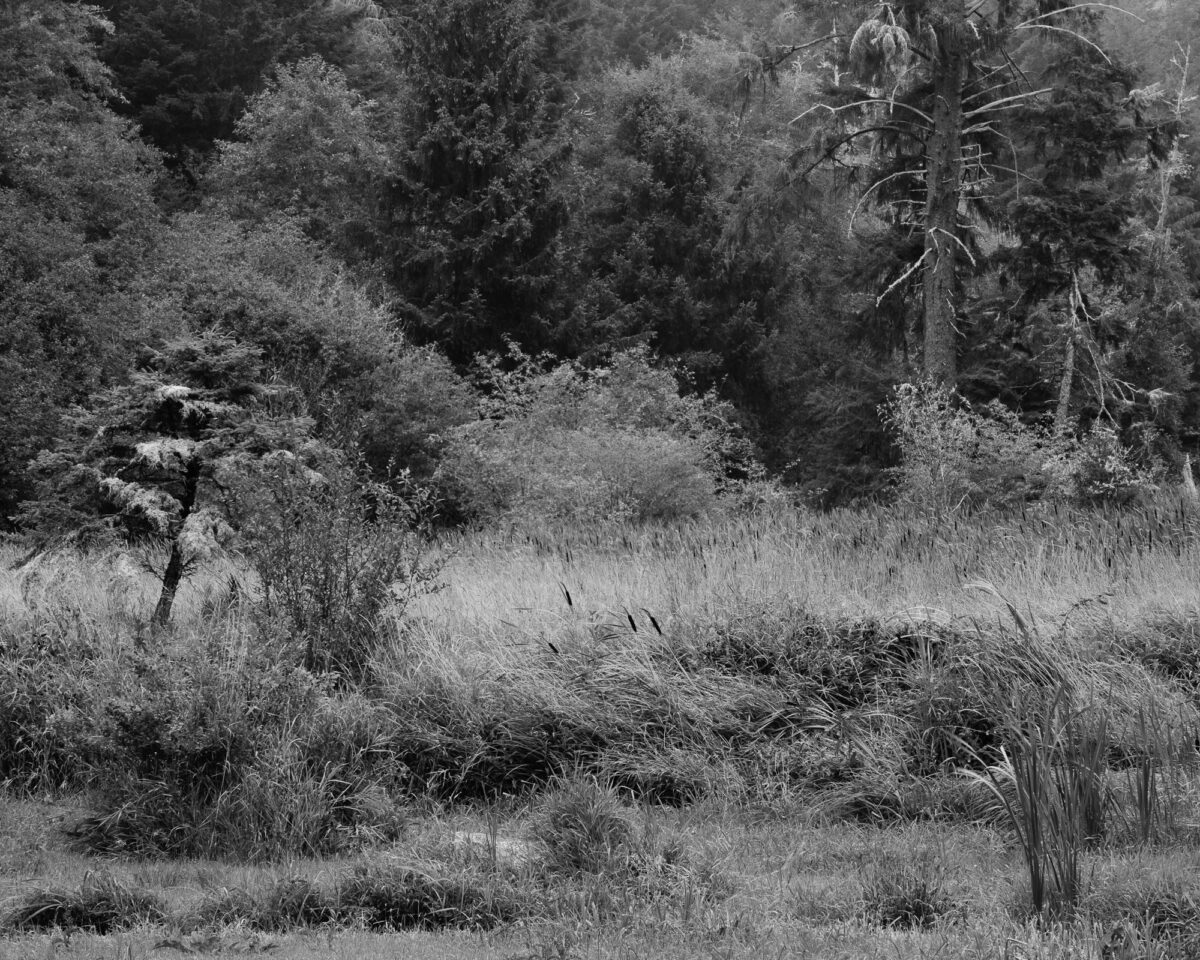
[[[390,715],[366,698],[205,649],[107,671],[47,725],[90,787],[94,812],[72,829],[83,848],[260,860],[338,853],[402,828],[392,792],[407,770]]]

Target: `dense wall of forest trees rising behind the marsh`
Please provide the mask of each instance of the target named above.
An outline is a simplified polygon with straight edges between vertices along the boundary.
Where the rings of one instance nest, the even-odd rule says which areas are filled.
[[[826,503],[883,491],[878,408],[920,376],[1060,436],[1103,421],[1146,469],[1177,469],[1200,443],[1198,17],[1189,0],[6,4],[0,516],[128,521],[72,487],[88,474],[64,451],[79,466],[98,424],[164,402],[172,365],[214,344],[238,358],[236,397],[204,364],[176,376],[224,397],[205,470],[319,446],[437,484],[505,376],[533,382],[540,356],[600,383],[588,371],[630,350],[724,404],[743,450],[724,469],[751,444]],[[172,450],[96,457],[180,504],[191,454]]]

